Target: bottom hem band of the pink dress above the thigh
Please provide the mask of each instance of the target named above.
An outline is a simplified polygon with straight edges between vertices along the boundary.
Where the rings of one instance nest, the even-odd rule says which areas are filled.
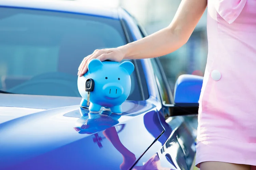
[[[256,143],[247,143],[223,137],[197,138],[195,166],[202,162],[226,162],[251,165],[256,168]]]

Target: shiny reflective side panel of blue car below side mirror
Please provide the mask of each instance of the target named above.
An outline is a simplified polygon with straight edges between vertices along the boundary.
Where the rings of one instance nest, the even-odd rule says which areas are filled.
[[[196,153],[197,115],[160,118],[165,132],[132,170],[189,170]]]

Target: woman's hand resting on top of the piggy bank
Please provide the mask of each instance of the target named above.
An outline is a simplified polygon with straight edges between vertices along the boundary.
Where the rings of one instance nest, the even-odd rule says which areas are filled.
[[[124,55],[124,52],[120,48],[95,50],[92,54],[85,57],[84,60],[81,62],[78,68],[77,75],[81,77],[88,71],[88,62],[93,58],[98,58],[100,61],[111,60],[115,62],[120,62],[123,60]]]

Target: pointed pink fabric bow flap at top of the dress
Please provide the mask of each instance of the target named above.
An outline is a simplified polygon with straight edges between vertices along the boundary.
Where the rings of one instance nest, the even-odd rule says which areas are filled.
[[[228,23],[233,23],[240,15],[247,0],[213,0],[218,14]]]

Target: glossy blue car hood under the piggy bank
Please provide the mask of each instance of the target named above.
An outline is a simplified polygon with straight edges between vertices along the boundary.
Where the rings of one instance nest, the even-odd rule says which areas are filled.
[[[0,107],[0,169],[129,169],[163,128],[153,104],[122,107],[122,115],[79,105]]]

